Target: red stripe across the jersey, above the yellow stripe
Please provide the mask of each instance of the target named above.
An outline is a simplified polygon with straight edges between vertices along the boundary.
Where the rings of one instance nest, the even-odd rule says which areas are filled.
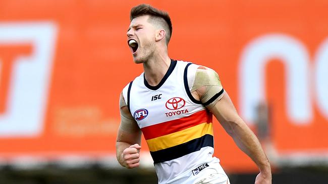
[[[180,130],[184,130],[201,123],[212,123],[212,114],[207,110],[199,111],[190,116],[177,120],[167,121],[156,125],[147,126],[141,129],[145,139],[153,139],[163,135],[168,135]]]

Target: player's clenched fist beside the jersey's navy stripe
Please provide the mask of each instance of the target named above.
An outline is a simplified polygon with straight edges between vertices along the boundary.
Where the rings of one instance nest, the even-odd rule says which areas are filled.
[[[123,153],[121,155],[123,166],[127,168],[138,167],[140,161],[140,154],[139,154],[140,149],[141,146],[139,144],[133,144],[130,147],[123,150]]]

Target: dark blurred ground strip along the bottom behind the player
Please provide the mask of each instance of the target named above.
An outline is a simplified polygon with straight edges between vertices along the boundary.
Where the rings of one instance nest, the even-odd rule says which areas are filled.
[[[229,173],[232,184],[253,184],[257,173]],[[272,183],[326,184],[328,166],[285,167],[277,170]],[[43,168],[15,169],[10,165],[0,169],[1,184],[141,184],[157,183],[153,169],[103,168],[97,164],[84,168],[63,168],[47,165]]]

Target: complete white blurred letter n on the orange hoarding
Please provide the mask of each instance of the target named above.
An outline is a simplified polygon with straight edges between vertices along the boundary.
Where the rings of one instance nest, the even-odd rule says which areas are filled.
[[[312,118],[309,95],[309,56],[298,40],[283,34],[268,34],[252,40],[244,49],[239,65],[240,112],[253,123],[255,107],[265,102],[265,64],[279,58],[286,66],[287,115],[297,124]],[[281,91],[285,93],[285,91]]]

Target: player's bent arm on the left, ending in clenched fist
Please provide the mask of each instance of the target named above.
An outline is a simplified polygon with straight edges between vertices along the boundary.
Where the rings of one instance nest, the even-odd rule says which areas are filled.
[[[125,104],[122,94],[120,97],[120,106]],[[119,163],[127,168],[139,166],[141,149],[141,130],[137,122],[131,116],[128,107],[120,107],[121,124],[116,139],[116,157]]]

